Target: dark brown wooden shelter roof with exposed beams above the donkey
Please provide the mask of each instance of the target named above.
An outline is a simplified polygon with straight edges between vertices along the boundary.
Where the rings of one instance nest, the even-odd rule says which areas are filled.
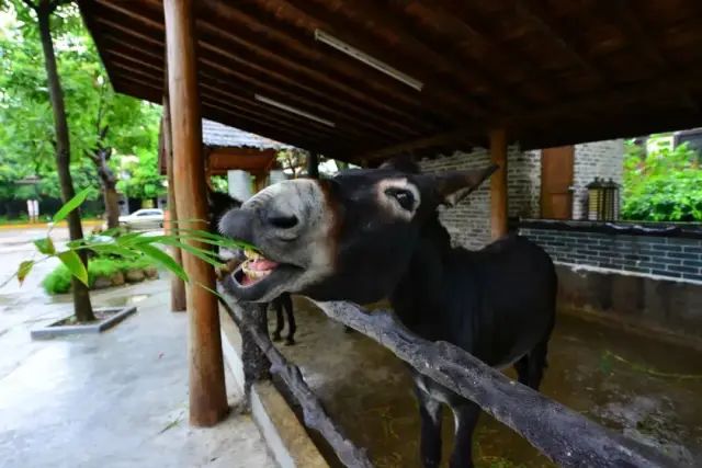
[[[115,89],[160,103],[161,1],[79,3]],[[332,158],[485,145],[495,127],[541,148],[702,123],[699,0],[194,3],[203,116]],[[317,41],[316,31],[421,90]]]

